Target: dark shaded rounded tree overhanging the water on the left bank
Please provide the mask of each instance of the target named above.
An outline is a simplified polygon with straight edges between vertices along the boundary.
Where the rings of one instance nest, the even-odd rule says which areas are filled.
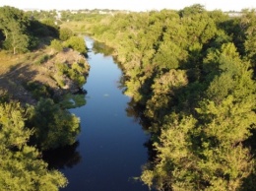
[[[33,141],[42,150],[72,145],[80,133],[80,119],[50,98],[38,101],[30,123],[34,127]]]

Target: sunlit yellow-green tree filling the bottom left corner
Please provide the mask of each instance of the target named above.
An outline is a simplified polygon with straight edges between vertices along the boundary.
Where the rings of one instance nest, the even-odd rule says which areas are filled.
[[[57,191],[67,179],[47,169],[38,151],[28,146],[33,130],[25,127],[27,112],[18,103],[0,104],[0,188]]]

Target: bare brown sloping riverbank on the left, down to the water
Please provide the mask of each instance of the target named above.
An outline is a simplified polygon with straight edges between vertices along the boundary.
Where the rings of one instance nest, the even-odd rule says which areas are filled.
[[[63,77],[65,86],[59,86],[57,79],[54,78],[58,73],[57,63],[65,63],[71,67],[72,64],[79,62],[83,64],[85,70],[81,75],[85,77],[90,70],[85,56],[71,48],[55,52],[50,47],[46,47],[21,55],[11,55],[1,51],[0,62],[0,94],[8,93],[11,99],[29,104],[36,102],[36,94],[40,96],[38,92],[59,97],[80,90],[74,80],[67,76]]]

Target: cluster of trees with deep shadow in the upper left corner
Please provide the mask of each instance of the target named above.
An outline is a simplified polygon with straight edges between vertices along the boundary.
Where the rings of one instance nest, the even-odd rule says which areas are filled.
[[[34,20],[22,10],[14,7],[0,7],[0,47],[12,50],[14,54],[32,50],[39,38],[58,36],[58,27],[52,20]]]

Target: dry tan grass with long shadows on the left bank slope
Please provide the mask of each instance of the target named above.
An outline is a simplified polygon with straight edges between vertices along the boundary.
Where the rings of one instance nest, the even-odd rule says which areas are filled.
[[[57,53],[49,46],[16,55],[0,50],[0,99],[3,99],[2,95],[5,92],[16,99],[31,103],[32,96],[37,98],[53,94],[49,92],[50,89],[58,92],[57,95],[65,94],[66,90],[59,89],[59,86],[65,87],[64,79],[61,76],[52,78],[57,72],[56,63],[61,62],[71,66],[79,56],[80,54],[75,51]],[[34,88],[31,87],[31,83],[40,86]],[[35,90],[27,90],[28,87]]]

